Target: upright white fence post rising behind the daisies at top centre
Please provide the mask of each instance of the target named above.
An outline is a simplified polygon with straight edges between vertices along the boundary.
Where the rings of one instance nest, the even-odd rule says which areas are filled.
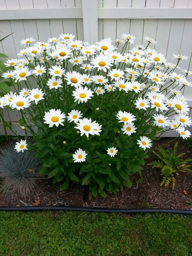
[[[82,0],[84,41],[98,41],[98,11],[96,0]]]

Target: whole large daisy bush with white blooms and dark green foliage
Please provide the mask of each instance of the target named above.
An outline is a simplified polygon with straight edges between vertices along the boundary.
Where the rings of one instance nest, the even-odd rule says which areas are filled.
[[[73,34],[47,42],[31,37],[21,40],[18,60],[5,64],[1,75],[14,88],[1,96],[0,114],[5,106],[17,109],[26,132],[15,149],[32,147],[41,173],[60,181],[61,190],[77,182],[94,196],[107,196],[131,187],[156,137],[168,130],[190,137],[182,94],[192,86],[191,71],[177,72],[186,56],[174,54],[174,64],[150,48],[154,39],[134,42],[131,34],[93,45]],[[34,144],[28,146],[30,134]]]

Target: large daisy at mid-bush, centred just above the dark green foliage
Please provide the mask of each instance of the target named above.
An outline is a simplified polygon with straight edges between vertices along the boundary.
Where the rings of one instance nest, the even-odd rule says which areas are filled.
[[[76,88],[75,91],[73,91],[72,94],[75,98],[75,102],[78,100],[78,104],[81,102],[87,102],[91,97],[93,97],[93,92],[92,90],[88,89],[87,86],[83,87],[78,87]]]

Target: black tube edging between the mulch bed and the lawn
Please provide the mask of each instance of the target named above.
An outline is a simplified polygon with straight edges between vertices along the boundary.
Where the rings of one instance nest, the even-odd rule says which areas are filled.
[[[92,208],[92,207],[72,207],[72,206],[24,206],[24,207],[0,207],[0,211],[84,211],[102,213],[172,213],[192,215],[191,210],[179,209],[113,209],[113,208]]]

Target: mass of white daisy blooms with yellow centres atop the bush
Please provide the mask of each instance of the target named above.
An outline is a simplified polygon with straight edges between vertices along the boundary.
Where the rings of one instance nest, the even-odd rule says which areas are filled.
[[[148,48],[150,43],[156,44],[156,41],[149,37],[145,37],[147,47],[136,45],[129,51],[126,51],[126,46],[135,41],[135,37],[130,34],[123,34],[122,39],[117,39],[116,46],[112,44],[111,38],[90,45],[74,40],[74,37],[73,34],[61,34],[59,38],[49,38],[47,42],[34,44],[32,37],[21,40],[21,44],[26,48],[17,55],[22,58],[7,60],[5,65],[10,67],[10,70],[2,75],[5,79],[15,80],[20,91],[1,97],[0,107],[9,105],[12,109],[27,109],[32,104],[45,100],[47,88],[51,92],[56,90],[61,93],[66,90],[66,86],[72,87],[73,99],[78,104],[87,102],[92,97],[105,96],[106,93],[119,90],[124,92],[124,95],[136,95],[133,96],[132,104],[137,109],[154,110],[152,117],[155,125],[175,129],[183,139],[190,137],[190,131],[185,128],[191,126],[192,121],[187,115],[189,108],[181,90],[192,86],[192,83],[187,81],[192,72],[185,69],[182,70],[185,75],[175,72],[179,69],[179,61],[187,60],[187,56],[173,54],[177,64],[167,62],[162,53]],[[122,43],[124,47],[119,53],[117,47]],[[33,66],[32,69],[29,64],[30,67]],[[32,89],[29,77],[33,77],[38,85],[42,84],[41,88]],[[177,87],[180,87],[180,90],[177,90]],[[174,111],[173,119],[169,119],[164,111]],[[116,116],[118,122],[123,124],[124,134],[130,136],[137,132],[134,125],[136,117],[132,113],[118,111]],[[43,119],[49,127],[63,126],[66,115],[60,109],[51,109],[45,112]],[[75,128],[81,136],[85,134],[88,138],[89,135],[99,135],[102,131],[98,122],[83,117],[79,110],[70,111],[67,119],[68,122],[75,123]],[[138,140],[138,144],[145,150],[151,147],[151,140],[143,136]],[[26,145],[26,141],[21,141],[16,145],[17,151],[23,151],[27,148]],[[108,148],[107,154],[114,157],[117,149]],[[73,158],[75,162],[83,162],[86,152],[78,149]]]

